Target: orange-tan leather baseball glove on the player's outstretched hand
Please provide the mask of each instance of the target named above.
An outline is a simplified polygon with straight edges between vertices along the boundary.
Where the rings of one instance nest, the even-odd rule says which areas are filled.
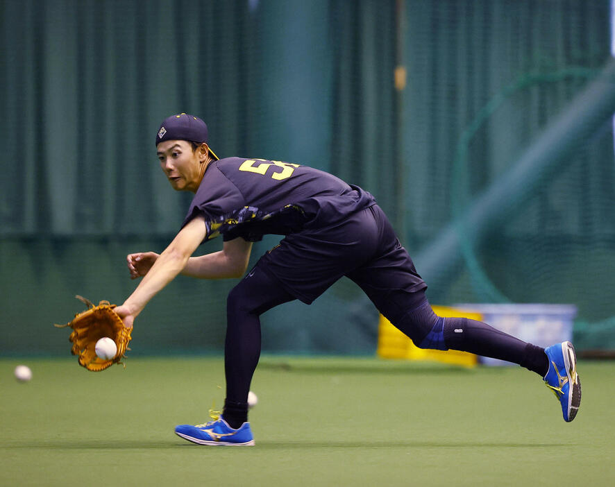
[[[94,306],[90,300],[82,296],[75,297],[83,301],[88,309],[76,314],[75,318],[66,325],[54,326],[58,328],[71,327],[73,329],[69,337],[73,344],[71,353],[79,356],[79,365],[87,368],[87,370],[98,372],[113,364],[121,364],[121,359],[126,357],[124,352],[130,350],[127,345],[132,338],[130,332],[133,329],[124,326],[121,318],[113,311],[115,305],[111,305],[108,301],[101,301],[98,306]],[[94,350],[96,342],[105,336],[115,341],[117,345],[115,357],[109,360],[101,359]],[[126,366],[124,365],[124,367]]]

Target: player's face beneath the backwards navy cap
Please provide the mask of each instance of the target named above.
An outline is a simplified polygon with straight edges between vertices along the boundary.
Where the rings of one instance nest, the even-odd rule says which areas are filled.
[[[193,151],[185,140],[167,140],[158,144],[156,152],[173,189],[194,193],[199,188],[203,178],[201,151]]]

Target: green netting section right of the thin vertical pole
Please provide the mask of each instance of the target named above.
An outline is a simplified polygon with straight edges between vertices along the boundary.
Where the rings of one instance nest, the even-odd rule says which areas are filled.
[[[603,69],[609,33],[598,33],[594,15],[608,17],[608,6],[478,3],[408,6],[407,63],[425,75],[410,78],[406,101],[405,154],[424,182],[406,196],[417,268],[432,302],[574,304],[580,346],[612,348],[612,110],[559,139],[553,148],[565,153],[548,174],[537,167],[522,198],[489,198],[501,207],[475,212],[498,219],[480,230],[463,220],[494,187],[508,190],[505,177],[519,158]],[[568,121],[576,123],[574,114]],[[594,329],[600,347],[585,340]]]

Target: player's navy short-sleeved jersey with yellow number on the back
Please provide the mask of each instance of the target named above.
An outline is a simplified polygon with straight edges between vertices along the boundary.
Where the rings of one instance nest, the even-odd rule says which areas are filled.
[[[318,169],[228,157],[208,166],[183,225],[203,214],[206,239],[258,241],[331,225],[375,204],[367,191]]]

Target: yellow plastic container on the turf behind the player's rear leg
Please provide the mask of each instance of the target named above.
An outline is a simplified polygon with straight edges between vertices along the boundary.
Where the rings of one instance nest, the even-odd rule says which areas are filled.
[[[482,315],[473,311],[450,308],[445,306],[432,306],[438,316],[460,316],[482,321]],[[444,364],[454,364],[464,367],[473,367],[478,364],[478,356],[458,350],[425,350],[419,348],[412,340],[400,332],[384,316],[380,315],[378,323],[378,357],[383,359],[406,359],[437,361]]]

